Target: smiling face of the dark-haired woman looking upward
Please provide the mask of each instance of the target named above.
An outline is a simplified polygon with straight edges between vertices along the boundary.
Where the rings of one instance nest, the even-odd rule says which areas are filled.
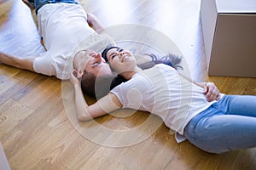
[[[123,48],[111,48],[107,53],[108,63],[118,74],[134,71],[137,61],[130,51]]]

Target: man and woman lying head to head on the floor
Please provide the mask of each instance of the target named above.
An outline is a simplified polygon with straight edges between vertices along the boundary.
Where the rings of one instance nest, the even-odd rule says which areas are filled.
[[[79,120],[131,108],[160,116],[177,142],[188,139],[210,153],[256,146],[256,96],[226,95],[212,82],[190,81],[178,73],[177,55],[151,55],[151,61],[137,65],[134,54],[116,47],[75,0],[26,3],[35,8],[46,51],[26,58],[0,52],[0,61],[70,79]],[[97,102],[87,105],[84,94]]]

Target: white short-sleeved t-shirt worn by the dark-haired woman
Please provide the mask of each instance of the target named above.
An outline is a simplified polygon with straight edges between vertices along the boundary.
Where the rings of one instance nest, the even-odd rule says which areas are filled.
[[[123,108],[160,116],[166,126],[176,132],[177,142],[181,142],[188,122],[216,102],[208,102],[203,91],[203,88],[180,77],[171,66],[159,64],[137,72],[131,80],[121,83],[111,92],[118,97]]]

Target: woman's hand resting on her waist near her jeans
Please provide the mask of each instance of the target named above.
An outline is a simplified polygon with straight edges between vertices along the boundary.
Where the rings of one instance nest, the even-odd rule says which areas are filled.
[[[211,102],[213,100],[220,99],[220,93],[217,86],[213,82],[207,82],[204,86],[204,94],[207,96],[207,101]]]

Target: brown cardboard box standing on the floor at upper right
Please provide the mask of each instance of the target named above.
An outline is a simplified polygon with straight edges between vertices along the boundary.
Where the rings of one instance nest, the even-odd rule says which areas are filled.
[[[256,0],[201,0],[210,76],[256,77]]]

